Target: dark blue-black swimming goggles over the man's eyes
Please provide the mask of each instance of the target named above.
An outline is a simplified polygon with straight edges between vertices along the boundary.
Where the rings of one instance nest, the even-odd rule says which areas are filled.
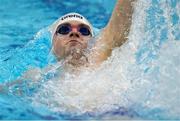
[[[69,23],[62,24],[58,27],[56,33],[62,34],[62,35],[67,35],[71,31],[77,31],[81,33],[83,36],[92,36],[92,33],[90,31],[90,28],[84,24],[77,25],[77,26],[72,26]]]

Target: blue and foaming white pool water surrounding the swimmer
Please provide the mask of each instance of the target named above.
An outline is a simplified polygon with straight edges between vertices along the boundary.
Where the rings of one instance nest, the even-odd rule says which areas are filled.
[[[138,0],[127,43],[97,70],[55,78],[48,26],[78,12],[98,31],[115,2],[0,0],[0,84],[54,65],[0,93],[0,119],[180,119],[178,0]]]

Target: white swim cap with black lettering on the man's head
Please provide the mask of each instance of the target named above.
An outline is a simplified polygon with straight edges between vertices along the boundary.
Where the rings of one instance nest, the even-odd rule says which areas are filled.
[[[69,22],[69,21],[78,21],[78,22],[81,22],[87,26],[89,26],[90,28],[90,32],[92,33],[92,36],[94,35],[93,34],[93,27],[92,25],[89,23],[89,21],[82,15],[78,14],[78,13],[68,13],[68,14],[65,14],[64,16],[60,17],[57,21],[55,21],[52,26],[50,26],[50,32],[51,32],[51,35],[52,35],[52,38],[53,39],[53,36],[56,32],[56,29],[59,25],[63,24],[63,23],[66,23],[66,22]]]

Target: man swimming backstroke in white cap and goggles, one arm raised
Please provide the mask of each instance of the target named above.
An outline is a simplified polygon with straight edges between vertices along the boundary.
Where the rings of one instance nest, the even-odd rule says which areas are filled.
[[[87,54],[88,43],[94,37],[89,21],[78,13],[62,16],[51,26],[52,50],[58,61],[74,67],[97,66],[106,60],[115,47],[121,46],[130,30],[133,2],[117,0],[109,23],[102,29],[95,46]]]

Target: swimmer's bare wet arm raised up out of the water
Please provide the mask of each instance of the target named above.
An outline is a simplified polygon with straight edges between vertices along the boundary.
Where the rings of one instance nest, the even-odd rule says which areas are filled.
[[[134,1],[136,0],[117,0],[110,21],[103,29],[90,55],[93,63],[100,64],[106,60],[113,48],[121,46],[127,40]]]

